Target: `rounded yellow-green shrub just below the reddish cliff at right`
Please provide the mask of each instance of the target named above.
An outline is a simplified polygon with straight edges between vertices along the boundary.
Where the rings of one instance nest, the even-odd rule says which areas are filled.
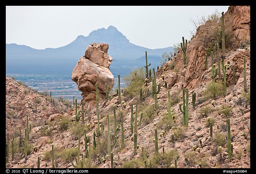
[[[222,84],[220,82],[216,83],[215,81],[210,81],[206,87],[206,90],[203,92],[203,100],[208,100],[211,98],[216,100],[217,97],[219,97],[222,94],[224,94]]]

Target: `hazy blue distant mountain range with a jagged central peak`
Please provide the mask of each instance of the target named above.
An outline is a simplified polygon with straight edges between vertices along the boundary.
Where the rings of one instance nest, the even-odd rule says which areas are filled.
[[[59,48],[37,50],[15,43],[6,44],[6,73],[71,74],[90,43],[108,43],[108,54],[113,58],[110,69],[115,77],[128,74],[134,67],[144,67],[146,50],[151,68],[160,66],[164,60],[160,56],[173,50],[171,46],[153,50],[136,46],[116,27],[109,26],[92,31],[87,37],[80,35]]]

